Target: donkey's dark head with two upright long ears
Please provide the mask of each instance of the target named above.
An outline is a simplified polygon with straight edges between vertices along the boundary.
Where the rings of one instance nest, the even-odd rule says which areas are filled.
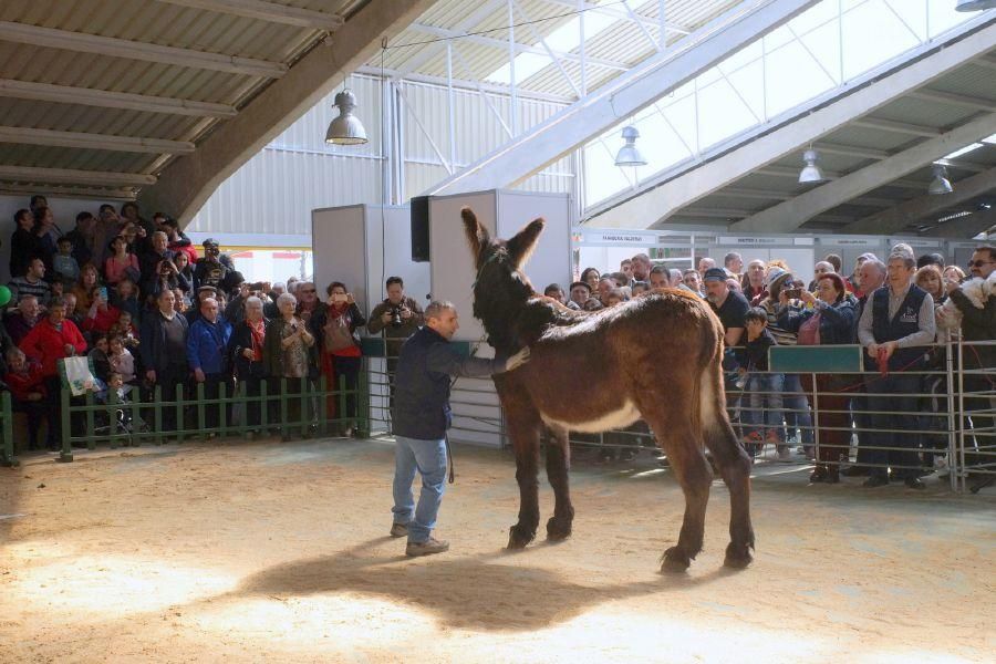
[[[533,219],[513,238],[502,240],[491,239],[488,229],[480,225],[470,208],[461,209],[460,216],[477,269],[474,315],[484,322],[491,345],[515,345],[511,323],[518,308],[533,294],[522,266],[529,260],[543,231],[543,220]]]

